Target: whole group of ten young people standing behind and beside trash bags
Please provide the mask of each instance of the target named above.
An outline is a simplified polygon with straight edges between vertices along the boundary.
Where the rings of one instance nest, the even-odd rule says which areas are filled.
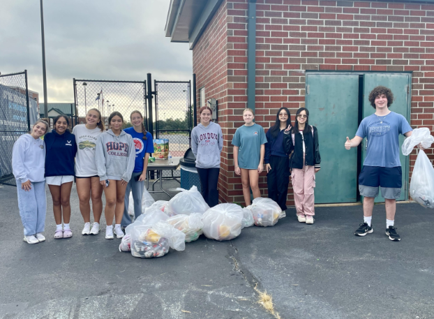
[[[373,205],[381,188],[386,201],[386,235],[399,241],[401,237],[394,227],[396,200],[401,196],[402,187],[398,137],[400,134],[409,137],[412,128],[405,117],[389,110],[394,96],[387,87],[375,87],[369,101],[375,113],[363,119],[355,137],[352,140],[347,138],[345,142],[345,149],[351,149],[358,147],[364,138],[368,140],[364,166],[359,175],[359,192],[364,196],[364,223],[359,225],[354,235],[365,236],[373,232]],[[191,144],[202,197],[210,207],[214,207],[218,205],[223,133],[220,126],[211,121],[211,108],[201,107],[199,114],[200,123],[193,128]],[[274,126],[264,133],[264,128],[253,121],[253,110],[246,108],[243,111],[244,125],[235,131],[232,145],[234,173],[241,176],[246,206],[251,204],[250,189],[253,198],[261,197],[259,177],[266,170],[268,197],[285,211],[291,179],[298,221],[314,223],[315,175],[320,170],[321,156],[317,128],[308,124],[308,118],[309,111],[300,107],[292,124],[290,110],[281,107]],[[68,130],[68,118],[60,115],[54,119],[50,133],[47,133],[47,122],[39,120],[31,133],[22,135],[15,142],[13,174],[17,181],[25,242],[36,244],[45,240],[42,234],[47,206],[45,184],[52,194],[57,225],[54,238],[72,237],[69,223],[74,177],[84,219],[82,235],[97,235],[100,231],[104,191],[105,238],[124,237],[123,228],[132,222],[128,214],[130,191],[137,218],[142,214],[149,154],[154,152],[152,135],[144,128],[142,114],[133,111],[130,122],[133,126],[123,130],[124,118],[119,112],[112,112],[108,119],[110,129],[105,131],[100,112],[91,109],[87,112],[86,124],[75,126],[72,133]],[[43,135],[45,138],[41,139]]]

